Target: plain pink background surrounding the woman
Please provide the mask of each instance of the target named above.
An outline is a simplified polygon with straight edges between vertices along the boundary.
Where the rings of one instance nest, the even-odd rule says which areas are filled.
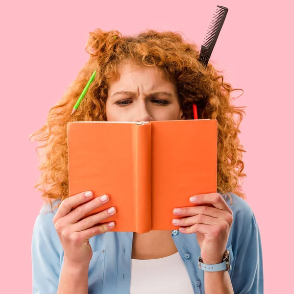
[[[32,291],[31,236],[42,200],[33,188],[39,172],[28,137],[46,122],[49,108],[86,62],[88,33],[98,27],[123,35],[146,28],[181,31],[200,46],[216,5],[229,12],[211,61],[233,87],[245,90],[236,99],[247,107],[241,134],[247,150],[243,187],[261,231],[265,293],[289,293],[294,262],[291,4],[114,2],[27,0],[1,5],[0,293]]]

